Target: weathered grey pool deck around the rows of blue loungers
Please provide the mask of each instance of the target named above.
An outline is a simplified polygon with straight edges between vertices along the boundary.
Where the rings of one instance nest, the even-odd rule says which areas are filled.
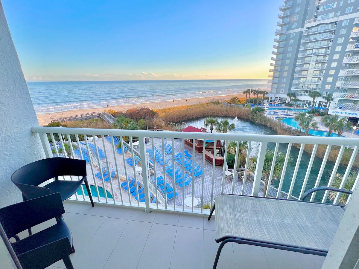
[[[115,155],[113,154],[112,151],[112,146],[111,144],[105,139],[104,140],[105,143],[103,145],[102,143],[102,139],[99,138],[99,140],[96,141],[97,146],[99,146],[100,148],[102,148],[103,150],[106,150],[107,153],[107,158],[110,162],[111,165],[115,166],[115,157],[116,157],[116,161],[117,161],[117,166],[119,169],[124,169],[125,165],[126,165],[126,169],[127,171],[133,172],[133,167],[129,166],[128,164],[124,164],[123,163],[123,157],[122,155],[118,154],[117,152],[115,152]],[[166,141],[166,140],[165,140]],[[170,139],[167,140],[168,143],[172,144],[172,141]],[[161,139],[159,138],[154,138],[154,145],[155,147],[157,147],[158,149],[161,149],[159,147],[161,143]],[[146,149],[152,148],[152,142],[151,139],[149,141],[149,143],[146,144]],[[137,151],[139,151],[139,148],[136,149]],[[192,148],[188,147],[187,145],[185,145],[185,150],[187,150],[191,155],[192,155]],[[182,139],[174,139],[174,155],[176,155],[178,152],[182,152]],[[126,153],[126,158],[130,157],[131,154],[129,152]],[[166,166],[170,165],[172,163],[172,154],[166,154],[167,158],[171,158],[171,160],[166,164]],[[194,156],[192,156],[192,159],[197,162],[197,164],[200,164],[200,166],[202,167],[202,162],[203,162],[203,154],[202,153],[195,153]],[[153,158],[150,157],[150,160],[153,161]],[[105,161],[105,159],[102,159],[101,161]],[[154,161],[153,161],[154,162]],[[155,162],[154,162],[155,163]],[[182,170],[182,166],[180,164],[178,164],[176,161],[174,162],[177,166],[181,167]],[[177,196],[175,197],[175,199],[171,198],[171,199],[167,199],[167,203],[169,205],[173,205],[173,202],[175,200],[176,206],[182,206],[182,199],[183,199],[183,190],[180,186],[178,186],[177,183],[174,182],[174,180],[168,175],[168,174],[163,174],[163,165],[159,165],[158,163],[155,163],[156,165],[156,176],[163,176],[166,180],[166,182],[168,184],[171,185],[171,187],[173,187],[173,189],[177,192]],[[91,171],[91,167],[90,164],[88,163],[87,165],[87,171],[88,171],[88,179],[89,179],[89,183],[93,184],[93,176],[92,176],[92,171]],[[212,174],[213,174],[213,165],[208,162],[207,160],[205,160],[205,165],[203,167],[203,171],[204,171],[204,179],[203,179],[203,203],[205,204],[206,202],[210,203],[210,199],[211,199],[211,189],[212,189]],[[98,173],[99,169],[98,167],[94,167],[94,173]],[[192,176],[187,170],[185,170],[185,173],[188,174],[188,176]],[[223,166],[215,166],[215,170],[214,170],[214,185],[213,185],[213,198],[216,197],[217,195],[219,195],[222,191],[222,175],[223,175]],[[152,175],[152,177],[154,178],[154,175]],[[121,181],[120,181],[121,182]],[[192,195],[192,182],[194,184],[194,191],[193,191],[193,195]],[[194,180],[192,180],[190,185],[187,185],[184,187],[185,192],[184,195],[186,196],[194,196],[195,198],[201,198],[202,196],[202,175],[197,176],[194,178]],[[103,186],[102,184],[102,180],[101,179],[97,179],[96,183],[98,186]],[[151,182],[154,185],[153,182]],[[116,200],[120,200],[120,192],[122,192],[122,197],[123,197],[123,201],[128,202],[128,193],[124,190],[120,190],[120,188],[118,187],[118,179],[117,177],[112,179],[112,187],[113,187],[113,192],[115,194],[115,198]],[[105,182],[105,186],[106,189],[111,193],[111,182],[107,181]],[[238,180],[235,184],[234,184],[234,194],[241,194],[242,191],[242,180]],[[252,191],[252,182],[251,181],[246,181],[246,185],[245,185],[245,189],[244,189],[244,194],[246,195],[250,195]],[[231,193],[232,192],[232,180],[230,181],[225,181],[224,180],[224,186],[223,186],[223,193]],[[160,190],[158,189],[158,193],[162,194],[160,192]],[[164,197],[164,194],[162,194],[162,196]],[[134,197],[130,198],[132,202],[136,202],[136,200],[134,199]]]

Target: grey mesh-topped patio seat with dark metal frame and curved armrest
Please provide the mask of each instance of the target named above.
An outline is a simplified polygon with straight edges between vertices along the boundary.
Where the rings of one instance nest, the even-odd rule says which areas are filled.
[[[210,220],[216,210],[216,242],[221,244],[213,269],[228,242],[326,256],[345,208],[304,201],[318,190],[352,194],[349,190],[323,186],[308,190],[300,200],[217,196],[208,217]]]

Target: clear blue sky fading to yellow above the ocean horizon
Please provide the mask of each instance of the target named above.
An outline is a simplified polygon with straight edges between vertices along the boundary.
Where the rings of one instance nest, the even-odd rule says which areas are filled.
[[[268,77],[283,1],[2,0],[27,81]]]

